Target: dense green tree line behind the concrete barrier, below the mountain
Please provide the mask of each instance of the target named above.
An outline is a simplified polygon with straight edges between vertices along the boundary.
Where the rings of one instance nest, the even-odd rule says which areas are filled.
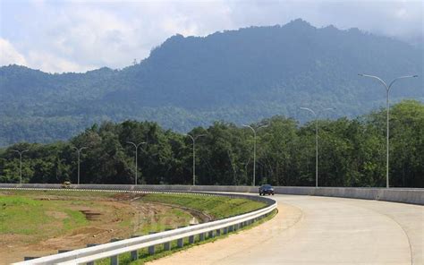
[[[390,182],[396,187],[424,187],[424,104],[405,100],[391,108]],[[299,124],[273,116],[257,124],[257,184],[315,184],[315,123]],[[216,122],[195,127],[197,184],[252,182],[253,133],[249,128]],[[319,185],[386,184],[386,111],[354,119],[318,120]],[[141,142],[139,184],[191,184],[192,141],[152,122],[94,124],[70,141],[21,142],[0,150],[0,183],[19,183],[22,155],[24,183],[77,182],[81,151],[81,184],[133,184],[134,147]]]

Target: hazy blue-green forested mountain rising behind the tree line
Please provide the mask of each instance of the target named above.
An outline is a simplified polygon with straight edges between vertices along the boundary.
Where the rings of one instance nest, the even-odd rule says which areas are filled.
[[[215,120],[309,120],[299,107],[335,107],[326,117],[361,115],[384,107],[386,92],[357,73],[386,81],[419,74],[395,83],[390,97],[424,101],[423,54],[393,38],[295,20],[207,37],[176,35],[122,70],[51,74],[3,66],[0,146],[68,139],[104,120],[151,120],[186,131]]]

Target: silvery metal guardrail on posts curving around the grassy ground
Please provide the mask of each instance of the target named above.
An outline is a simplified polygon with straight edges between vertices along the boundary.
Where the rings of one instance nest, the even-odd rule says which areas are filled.
[[[24,189],[24,190],[39,190],[40,188],[17,188],[17,187],[3,187],[0,189]],[[89,189],[45,189],[44,190],[62,190],[62,191],[88,191]],[[148,192],[148,191],[124,191],[119,190],[89,190],[98,192]],[[97,246],[91,246],[84,249],[78,249],[70,252],[63,252],[54,254],[46,257],[37,258],[30,261],[21,261],[14,264],[27,265],[27,264],[94,264],[94,261],[98,261],[105,258],[111,258],[111,264],[119,264],[118,256],[120,254],[131,252],[131,259],[135,260],[138,257],[137,251],[144,248],[154,249],[155,245],[164,244],[167,248],[170,246],[170,242],[177,241],[178,246],[182,247],[183,239],[189,238],[189,242],[194,243],[194,236],[199,235],[199,240],[205,240],[208,238],[220,235],[221,232],[226,234],[238,230],[242,227],[248,226],[254,222],[257,222],[260,218],[265,218],[274,209],[276,209],[277,203],[275,200],[252,196],[244,194],[233,194],[233,193],[220,193],[220,192],[182,192],[182,191],[154,191],[160,193],[190,193],[208,196],[228,196],[237,198],[247,198],[253,201],[263,201],[267,203],[267,207],[254,210],[239,216],[232,218],[220,219],[208,223],[203,223],[191,227],[176,228],[169,231],[159,232],[153,235],[141,235],[130,239],[116,241],[107,244],[99,244]],[[136,254],[133,254],[133,253]]]

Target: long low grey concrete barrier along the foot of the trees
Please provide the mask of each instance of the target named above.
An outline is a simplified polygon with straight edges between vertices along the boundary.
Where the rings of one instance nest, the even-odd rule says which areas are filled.
[[[60,189],[61,184],[0,184],[0,188]],[[146,192],[245,192],[257,193],[258,187],[223,185],[127,185],[127,184],[72,184],[72,188],[91,190],[146,191]],[[289,187],[276,186],[277,194],[313,195],[394,201],[424,205],[424,189],[406,188],[344,188],[344,187]]]

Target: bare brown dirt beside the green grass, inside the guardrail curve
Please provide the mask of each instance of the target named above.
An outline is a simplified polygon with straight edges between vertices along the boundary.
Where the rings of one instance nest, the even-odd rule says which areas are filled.
[[[62,196],[43,196],[39,200],[68,200]],[[1,235],[0,236],[0,264],[10,264],[23,261],[26,257],[40,257],[57,253],[58,250],[73,250],[86,247],[87,244],[103,244],[113,238],[129,238],[131,235],[140,235],[140,228],[146,225],[155,226],[155,222],[162,226],[178,226],[179,217],[170,216],[174,206],[140,202],[140,194],[117,193],[114,198],[97,198],[101,209],[93,206],[76,205],[74,209],[81,211],[89,225],[72,229],[69,233],[35,241],[31,235]],[[79,199],[80,200],[80,199]],[[192,218],[199,221],[208,220],[199,212],[181,209]],[[66,218],[63,212],[49,211],[48,216]],[[175,220],[175,218],[177,218]],[[183,222],[185,220],[181,220]],[[148,223],[148,224],[147,224]]]

